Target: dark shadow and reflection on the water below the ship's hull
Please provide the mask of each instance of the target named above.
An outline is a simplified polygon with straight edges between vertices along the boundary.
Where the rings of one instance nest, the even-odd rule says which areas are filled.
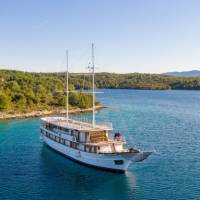
[[[136,177],[132,172],[115,174],[71,161],[43,145],[43,174],[61,199],[135,199]],[[128,191],[128,192],[127,192]]]

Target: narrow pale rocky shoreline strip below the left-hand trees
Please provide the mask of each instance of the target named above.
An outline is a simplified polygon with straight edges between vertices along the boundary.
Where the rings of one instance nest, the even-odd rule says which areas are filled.
[[[105,106],[96,106],[95,110],[101,110],[103,108],[106,108]],[[91,112],[92,108],[87,109],[80,109],[75,108],[72,110],[69,110],[69,113],[81,113],[81,112]],[[41,117],[41,116],[47,116],[47,115],[62,115],[65,114],[66,110],[40,110],[40,111],[32,111],[29,113],[5,113],[0,112],[0,120],[6,120],[6,119],[23,119],[23,118],[32,118],[32,117]]]

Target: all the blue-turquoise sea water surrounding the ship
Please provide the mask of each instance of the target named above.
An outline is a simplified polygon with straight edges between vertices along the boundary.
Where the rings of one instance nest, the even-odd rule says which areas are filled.
[[[200,92],[104,90],[98,98],[109,106],[98,120],[112,121],[130,145],[156,152],[126,174],[112,174],[48,149],[37,118],[4,121],[1,200],[200,199]]]

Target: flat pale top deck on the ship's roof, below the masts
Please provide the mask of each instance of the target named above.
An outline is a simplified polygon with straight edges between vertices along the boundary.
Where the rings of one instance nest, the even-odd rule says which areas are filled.
[[[56,126],[79,131],[113,130],[111,123],[98,123],[93,126],[92,124],[86,122],[75,121],[72,119],[67,120],[65,117],[44,117],[41,120]]]

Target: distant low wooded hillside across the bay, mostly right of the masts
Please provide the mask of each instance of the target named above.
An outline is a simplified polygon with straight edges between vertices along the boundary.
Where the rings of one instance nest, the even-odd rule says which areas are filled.
[[[79,87],[77,79],[81,78],[88,81],[88,76],[73,74],[71,75],[75,86]],[[174,77],[158,74],[111,74],[97,73],[95,74],[95,84],[98,88],[126,88],[126,89],[151,89],[151,90],[199,90],[200,77],[186,78]],[[89,86],[88,82],[85,85]]]

